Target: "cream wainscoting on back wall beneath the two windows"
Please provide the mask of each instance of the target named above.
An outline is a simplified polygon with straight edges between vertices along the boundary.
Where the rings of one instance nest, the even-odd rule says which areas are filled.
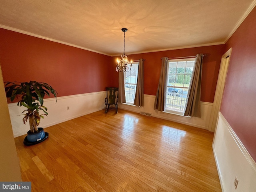
[[[137,113],[146,112],[146,113],[150,113],[153,117],[166,119],[166,120],[208,130],[210,115],[212,112],[212,103],[201,102],[201,118],[197,118],[197,117],[190,118],[190,117],[184,117],[176,114],[170,114],[170,113],[154,110],[155,98],[156,96],[144,95],[144,107],[136,107],[128,104],[119,104],[118,108],[126,109],[126,110],[137,112]]]

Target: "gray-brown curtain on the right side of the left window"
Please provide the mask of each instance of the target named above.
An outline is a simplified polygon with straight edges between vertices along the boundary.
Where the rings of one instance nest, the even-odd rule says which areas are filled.
[[[136,94],[134,98],[134,105],[144,105],[144,60],[139,59],[138,79],[136,86]]]

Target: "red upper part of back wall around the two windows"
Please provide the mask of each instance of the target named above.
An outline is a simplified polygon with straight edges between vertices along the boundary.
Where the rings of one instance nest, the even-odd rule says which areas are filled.
[[[224,52],[224,47],[225,45],[215,45],[161,52],[150,52],[128,55],[128,58],[129,60],[138,60],[140,58],[145,59],[144,94],[156,95],[162,66],[162,57],[166,56],[171,58],[195,56],[198,53],[206,54],[203,60],[201,100],[204,102],[213,102],[218,80],[218,73],[220,69],[220,60]],[[117,56],[113,57],[112,62],[115,63],[116,58]],[[118,86],[118,73],[114,74],[113,76],[115,78],[116,86]]]

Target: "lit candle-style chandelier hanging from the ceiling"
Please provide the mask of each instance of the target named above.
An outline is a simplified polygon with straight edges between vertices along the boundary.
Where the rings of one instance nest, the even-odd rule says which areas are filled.
[[[128,31],[128,29],[126,28],[122,28],[122,32],[124,32],[124,47],[125,47],[125,32]],[[128,60],[128,55],[126,55],[125,53],[123,53],[121,55],[121,59],[117,58],[117,64],[116,64],[116,71],[124,71],[124,72],[128,72],[131,70],[132,68],[132,60],[131,62]],[[128,63],[131,63],[130,65],[127,66]]]

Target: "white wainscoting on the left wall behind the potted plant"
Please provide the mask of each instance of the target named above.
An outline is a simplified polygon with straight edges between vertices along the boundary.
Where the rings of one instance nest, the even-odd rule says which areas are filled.
[[[77,118],[105,108],[104,98],[106,92],[94,92],[86,94],[78,94],[72,96],[44,99],[44,106],[48,108],[48,116],[40,121],[39,127],[49,127],[73,118]],[[67,110],[69,106],[69,110]],[[24,135],[30,130],[28,122],[23,124],[20,116],[25,107],[18,107],[17,103],[8,104],[10,118],[12,122],[12,130],[14,137]]]

